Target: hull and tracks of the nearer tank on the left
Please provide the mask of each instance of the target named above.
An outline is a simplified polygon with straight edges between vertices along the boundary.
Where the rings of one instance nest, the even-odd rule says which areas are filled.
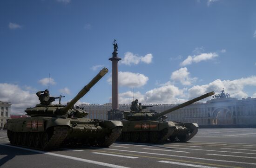
[[[61,144],[107,147],[121,135],[120,121],[33,116],[9,119],[5,124],[11,144],[51,150]]]

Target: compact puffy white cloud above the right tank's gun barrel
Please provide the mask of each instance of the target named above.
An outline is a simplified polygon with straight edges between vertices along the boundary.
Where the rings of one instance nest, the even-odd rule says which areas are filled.
[[[177,71],[172,72],[171,79],[182,83],[183,85],[190,85],[196,81],[197,78],[190,78],[189,71],[186,67],[180,68]]]

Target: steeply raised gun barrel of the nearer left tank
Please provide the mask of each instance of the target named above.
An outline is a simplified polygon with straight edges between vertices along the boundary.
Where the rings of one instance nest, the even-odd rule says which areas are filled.
[[[104,75],[108,73],[107,68],[103,68],[80,92],[67,104],[66,107],[61,109],[61,112],[67,112],[71,107],[74,106],[76,102],[78,102],[81,97],[83,97],[93,86],[96,84]]]

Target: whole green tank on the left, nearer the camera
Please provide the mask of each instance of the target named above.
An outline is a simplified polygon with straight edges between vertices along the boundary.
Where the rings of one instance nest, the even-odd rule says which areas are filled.
[[[30,117],[9,119],[5,129],[10,143],[43,150],[61,144],[111,145],[121,134],[121,121],[85,118],[86,110],[74,108],[107,72],[103,68],[67,105],[40,103],[25,110]]]

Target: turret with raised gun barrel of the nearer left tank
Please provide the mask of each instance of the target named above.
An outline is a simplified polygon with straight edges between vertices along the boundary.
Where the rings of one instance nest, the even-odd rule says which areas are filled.
[[[74,104],[78,102],[106,73],[107,68],[103,68],[87,85],[85,85],[79,93],[67,105],[61,104],[37,104],[36,107],[27,108],[28,116],[71,116],[76,115],[82,117],[88,115],[85,110],[74,109]]]

